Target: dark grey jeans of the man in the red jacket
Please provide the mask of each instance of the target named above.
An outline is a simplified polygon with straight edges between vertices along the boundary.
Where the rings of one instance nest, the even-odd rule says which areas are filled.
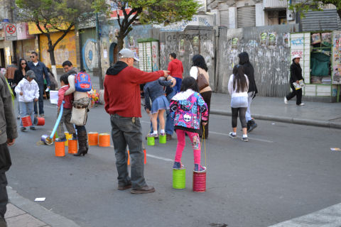
[[[133,189],[146,186],[140,119],[125,118],[113,114],[110,116],[110,121],[112,123],[112,141],[114,142],[119,186],[130,183]],[[131,158],[131,179],[128,172],[126,145],[129,147]]]

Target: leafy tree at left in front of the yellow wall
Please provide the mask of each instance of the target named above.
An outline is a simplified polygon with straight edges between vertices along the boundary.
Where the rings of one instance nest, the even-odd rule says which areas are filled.
[[[48,38],[48,52],[55,71],[55,46],[77,23],[88,21],[94,12],[94,0],[16,0],[21,21],[36,23],[40,33]],[[96,10],[104,6],[104,0],[96,0]],[[41,28],[41,27],[43,28]],[[60,37],[53,43],[51,33],[60,31]],[[56,71],[53,72],[56,74]]]

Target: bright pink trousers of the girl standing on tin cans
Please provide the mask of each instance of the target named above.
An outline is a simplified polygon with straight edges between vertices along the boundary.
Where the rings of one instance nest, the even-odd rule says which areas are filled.
[[[200,137],[198,133],[192,133],[181,129],[176,130],[178,145],[176,145],[175,162],[180,162],[185,148],[185,133],[190,138],[193,148],[194,164],[200,164]]]

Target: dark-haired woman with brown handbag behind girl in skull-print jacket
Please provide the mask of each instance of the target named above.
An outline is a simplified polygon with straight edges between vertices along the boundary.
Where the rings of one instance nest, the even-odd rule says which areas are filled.
[[[211,96],[212,89],[210,87],[210,76],[208,74],[207,65],[205,62],[205,58],[202,55],[194,55],[192,58],[193,65],[190,68],[190,77],[193,77],[197,80],[197,86],[200,90],[200,95],[202,99],[204,99],[208,108],[208,116],[207,116],[207,124],[205,126],[205,138],[208,138],[208,122],[210,117],[210,104],[211,104]],[[199,135],[202,137],[202,123],[200,122],[200,131]]]

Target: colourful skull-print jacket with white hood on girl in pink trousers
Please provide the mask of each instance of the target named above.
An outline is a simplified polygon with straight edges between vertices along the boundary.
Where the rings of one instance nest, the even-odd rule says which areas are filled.
[[[179,92],[171,100],[171,116],[174,119],[174,128],[198,133],[200,119],[207,121],[208,110],[202,96],[188,89]]]

